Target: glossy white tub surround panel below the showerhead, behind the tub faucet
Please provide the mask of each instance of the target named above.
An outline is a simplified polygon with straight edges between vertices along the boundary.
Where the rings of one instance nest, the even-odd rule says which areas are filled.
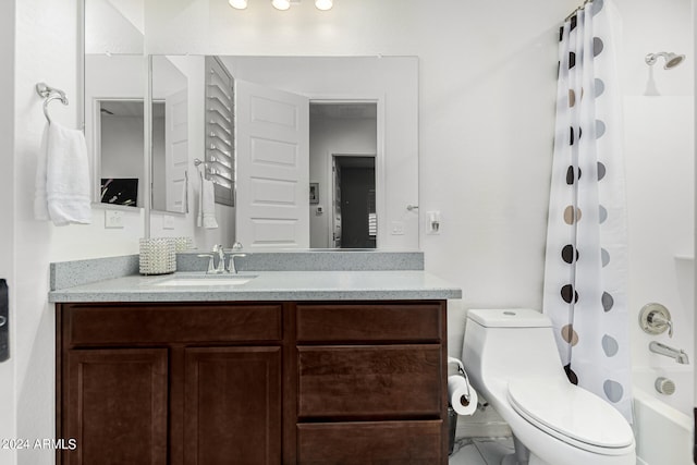
[[[648,344],[660,341],[694,358],[694,282],[686,282],[694,269],[682,262],[694,257],[694,100],[627,96],[624,110],[633,365],[673,367]],[[653,302],[670,310],[673,338],[640,330],[639,310]]]

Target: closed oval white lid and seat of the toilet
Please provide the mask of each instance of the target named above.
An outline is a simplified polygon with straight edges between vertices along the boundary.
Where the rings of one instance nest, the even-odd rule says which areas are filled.
[[[634,441],[629,424],[615,408],[565,380],[511,381],[509,401],[535,426],[583,449],[625,448]]]

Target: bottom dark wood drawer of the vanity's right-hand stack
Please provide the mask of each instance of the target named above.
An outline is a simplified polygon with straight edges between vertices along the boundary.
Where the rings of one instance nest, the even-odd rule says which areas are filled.
[[[444,463],[442,421],[297,425],[303,465],[435,465]]]

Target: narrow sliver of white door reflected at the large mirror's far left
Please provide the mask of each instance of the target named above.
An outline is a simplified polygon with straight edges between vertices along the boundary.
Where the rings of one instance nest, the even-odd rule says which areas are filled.
[[[164,99],[164,185],[167,211],[186,212],[186,168],[188,167],[187,89]]]

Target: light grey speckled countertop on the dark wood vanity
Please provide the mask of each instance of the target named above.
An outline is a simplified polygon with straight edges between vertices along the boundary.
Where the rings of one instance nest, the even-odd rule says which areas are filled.
[[[163,285],[173,279],[230,280],[244,284]],[[462,291],[423,270],[390,271],[248,271],[206,277],[204,272],[139,274],[57,289],[53,303],[224,302],[224,301],[392,301],[461,298]]]

